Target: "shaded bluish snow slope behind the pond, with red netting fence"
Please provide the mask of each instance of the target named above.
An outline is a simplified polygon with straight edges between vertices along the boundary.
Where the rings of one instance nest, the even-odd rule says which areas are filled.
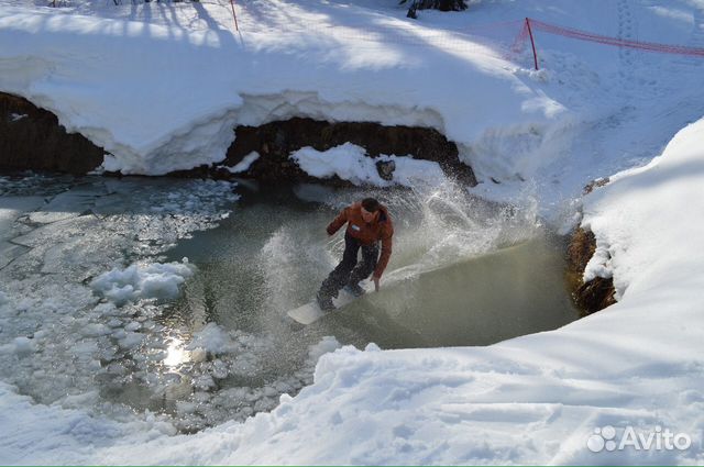
[[[0,89],[55,112],[125,174],[222,160],[234,125],[299,115],[433,126],[488,184],[479,193],[528,187],[549,203],[645,164],[700,116],[701,58],[540,31],[544,69],[530,70],[527,48],[509,51],[525,16],[702,45],[701,5],[684,0],[477,2],[418,21],[394,0],[251,0],[237,11],[239,33],[224,1],[51,9],[4,0]]]

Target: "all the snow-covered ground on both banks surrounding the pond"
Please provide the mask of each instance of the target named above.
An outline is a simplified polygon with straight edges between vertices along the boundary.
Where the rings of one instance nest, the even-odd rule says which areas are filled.
[[[619,173],[583,207],[600,252],[587,274],[613,275],[619,303],[488,347],[345,347],[272,413],[189,436],[3,385],[3,463],[704,463],[704,121],[662,151],[704,113],[704,60],[538,35],[546,69],[534,73],[460,34],[534,16],[702,46],[704,4],[477,2],[419,22],[395,0],[239,4],[241,37],[224,3],[4,2],[0,90],[55,111],[127,173],[219,160],[234,124],[290,115],[436,126],[483,177],[475,192],[528,193],[554,219],[584,182]],[[609,451],[628,427],[691,443]]]

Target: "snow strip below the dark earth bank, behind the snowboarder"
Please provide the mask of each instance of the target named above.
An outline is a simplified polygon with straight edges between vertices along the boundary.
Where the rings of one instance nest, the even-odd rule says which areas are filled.
[[[372,159],[366,157],[366,149],[352,143],[344,143],[328,151],[317,151],[306,146],[294,152],[289,158],[295,160],[300,168],[317,178],[330,178],[338,176],[354,185],[373,185],[389,187],[403,185],[441,185],[446,180],[438,163],[429,160],[416,160],[411,156],[399,157],[384,155]],[[377,162],[393,160],[396,169],[393,180],[384,180],[376,170]]]

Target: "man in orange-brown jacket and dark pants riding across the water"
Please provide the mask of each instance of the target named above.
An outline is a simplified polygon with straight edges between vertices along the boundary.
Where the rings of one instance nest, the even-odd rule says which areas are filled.
[[[317,301],[322,311],[334,310],[332,298],[338,297],[338,292],[343,287],[355,297],[364,293],[360,287],[360,281],[370,277],[374,288],[378,290],[378,281],[384,274],[384,269],[392,256],[392,236],[394,226],[392,218],[386,210],[374,198],[365,198],[362,202],[344,208],[328,225],[328,235],[334,235],[344,224],[348,229],[344,232],[344,254],[340,264],[322,281],[318,291]],[[382,242],[382,255],[378,254],[378,242]],[[362,249],[362,263],[358,264],[358,252]]]

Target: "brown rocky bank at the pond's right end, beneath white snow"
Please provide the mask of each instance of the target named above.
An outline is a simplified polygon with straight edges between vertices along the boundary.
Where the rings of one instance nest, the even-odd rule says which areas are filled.
[[[582,279],[590,258],[596,251],[596,238],[591,231],[578,227],[568,246],[566,280],[572,299],[583,316],[616,303],[614,280],[596,277],[588,282]]]

